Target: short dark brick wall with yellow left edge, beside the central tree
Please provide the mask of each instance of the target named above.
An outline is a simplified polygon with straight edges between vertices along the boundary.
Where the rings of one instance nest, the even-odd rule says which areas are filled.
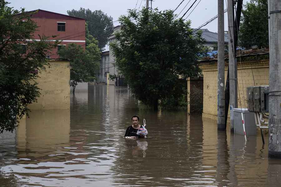
[[[203,78],[188,78],[188,113],[202,113],[203,110]]]

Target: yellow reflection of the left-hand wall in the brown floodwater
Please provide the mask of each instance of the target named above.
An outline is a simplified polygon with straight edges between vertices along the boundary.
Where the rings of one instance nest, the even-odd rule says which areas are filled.
[[[32,110],[17,129],[18,157],[57,154],[58,147],[69,146],[69,134],[70,110]]]

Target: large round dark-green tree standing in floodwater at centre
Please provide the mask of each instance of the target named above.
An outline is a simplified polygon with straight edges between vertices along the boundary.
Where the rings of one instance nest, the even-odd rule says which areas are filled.
[[[134,96],[155,110],[159,100],[181,97],[183,80],[199,75],[197,60],[208,51],[201,33],[193,33],[190,21],[175,19],[170,10],[129,10],[119,20],[118,42],[111,48]]]

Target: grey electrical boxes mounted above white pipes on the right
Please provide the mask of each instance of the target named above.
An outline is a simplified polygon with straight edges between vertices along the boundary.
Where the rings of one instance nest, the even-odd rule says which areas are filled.
[[[250,112],[268,112],[268,92],[269,86],[247,87],[247,103]]]

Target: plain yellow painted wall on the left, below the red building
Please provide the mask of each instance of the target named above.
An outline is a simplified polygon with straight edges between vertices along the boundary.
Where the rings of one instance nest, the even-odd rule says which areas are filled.
[[[68,61],[50,61],[51,67],[40,73],[37,103],[28,105],[31,110],[70,108],[70,65]]]

